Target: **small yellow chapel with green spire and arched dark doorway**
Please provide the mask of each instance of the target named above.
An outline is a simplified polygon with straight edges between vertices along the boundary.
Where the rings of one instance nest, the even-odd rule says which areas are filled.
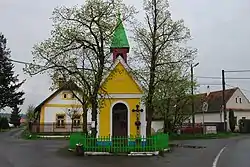
[[[146,137],[143,88],[127,64],[129,42],[120,15],[110,50],[113,65],[101,83],[99,93],[104,102],[97,116],[97,137],[110,136],[110,140],[99,144],[111,144],[113,137]]]

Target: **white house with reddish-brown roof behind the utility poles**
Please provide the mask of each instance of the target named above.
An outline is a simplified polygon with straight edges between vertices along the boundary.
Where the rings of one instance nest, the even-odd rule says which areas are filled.
[[[202,123],[203,119],[205,124],[224,122],[222,90],[207,92],[197,95],[195,123]],[[229,110],[234,111],[236,124],[240,119],[250,119],[250,102],[240,88],[232,88],[225,90],[226,101],[226,116],[229,128]],[[202,105],[207,102],[207,111],[202,111]],[[192,119],[190,119],[192,122]]]

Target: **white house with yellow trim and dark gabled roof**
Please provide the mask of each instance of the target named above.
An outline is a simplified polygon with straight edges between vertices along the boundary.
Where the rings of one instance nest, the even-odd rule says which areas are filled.
[[[36,107],[39,132],[70,132],[72,122],[74,131],[82,129],[82,105],[73,96],[69,86],[72,86],[72,83],[64,84]],[[89,126],[91,122],[91,110],[88,110]]]

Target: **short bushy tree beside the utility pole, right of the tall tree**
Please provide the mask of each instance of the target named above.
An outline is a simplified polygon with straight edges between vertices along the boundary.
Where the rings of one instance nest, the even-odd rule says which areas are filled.
[[[191,114],[189,75],[172,73],[169,82],[156,87],[153,97],[154,116],[164,119],[164,132],[176,130]]]

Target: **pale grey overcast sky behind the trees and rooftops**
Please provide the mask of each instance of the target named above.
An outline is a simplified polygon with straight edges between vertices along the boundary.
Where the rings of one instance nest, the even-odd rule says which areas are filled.
[[[143,0],[124,0],[142,9]],[[0,0],[2,32],[8,39],[12,59],[32,61],[32,47],[50,36],[52,11],[57,6],[83,4],[83,0]],[[193,40],[189,45],[198,49],[194,69],[200,87],[198,92],[220,90],[221,80],[200,77],[221,77],[221,70],[250,69],[250,1],[249,0],[170,0],[174,20],[184,19]],[[140,13],[139,18],[143,18]],[[21,87],[25,92],[23,112],[28,105],[38,105],[52,92],[46,75],[29,77],[22,64],[15,64]],[[226,77],[250,78],[250,72],[226,73]],[[240,87],[250,97],[250,79],[226,79],[229,87]]]

